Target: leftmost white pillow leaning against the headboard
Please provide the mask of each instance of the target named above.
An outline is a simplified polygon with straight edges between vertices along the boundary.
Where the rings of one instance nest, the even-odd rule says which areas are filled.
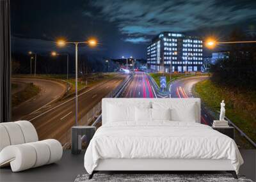
[[[121,121],[134,121],[134,107],[122,105],[109,104],[108,105],[108,121],[121,122]]]

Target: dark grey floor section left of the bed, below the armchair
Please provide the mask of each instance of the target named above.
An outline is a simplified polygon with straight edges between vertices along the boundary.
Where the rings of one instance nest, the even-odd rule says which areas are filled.
[[[12,172],[10,167],[0,169],[0,181],[74,181],[78,174],[86,173],[83,163],[84,153],[72,155],[65,150],[57,163],[22,172]]]

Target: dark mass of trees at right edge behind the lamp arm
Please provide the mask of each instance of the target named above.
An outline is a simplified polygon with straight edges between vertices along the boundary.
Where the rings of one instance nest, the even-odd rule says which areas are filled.
[[[234,30],[228,42],[256,40],[241,30]],[[236,43],[225,46],[225,58],[211,65],[212,81],[232,87],[256,89],[256,43]]]

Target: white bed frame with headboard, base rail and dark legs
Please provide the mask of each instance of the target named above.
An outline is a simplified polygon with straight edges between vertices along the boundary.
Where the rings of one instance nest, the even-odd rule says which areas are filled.
[[[108,102],[152,102],[161,100],[163,102],[177,102],[184,98],[104,98],[102,99],[102,125],[107,123],[107,103]],[[186,98],[186,102],[196,103],[197,119],[196,123],[201,123],[200,98]],[[93,174],[99,171],[148,171],[157,173],[160,171],[227,171],[237,179],[236,171],[230,160],[212,160],[212,159],[159,159],[159,158],[109,158],[99,160],[97,167],[90,174],[89,179]]]

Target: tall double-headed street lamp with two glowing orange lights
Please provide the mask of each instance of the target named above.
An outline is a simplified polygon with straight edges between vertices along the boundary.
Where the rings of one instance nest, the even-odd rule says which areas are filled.
[[[81,43],[85,43],[85,44],[88,44],[90,47],[95,47],[97,45],[97,40],[90,39],[90,40],[85,41],[85,42],[67,42],[67,41],[61,39],[61,40],[58,40],[56,43],[59,47],[64,47],[67,44],[74,44],[75,47],[76,47],[76,126],[77,126],[77,124],[78,124],[78,122],[77,122],[77,118],[78,118],[78,113],[77,113],[77,111],[78,111],[78,96],[77,96],[77,52],[78,52],[78,45],[81,44]]]

